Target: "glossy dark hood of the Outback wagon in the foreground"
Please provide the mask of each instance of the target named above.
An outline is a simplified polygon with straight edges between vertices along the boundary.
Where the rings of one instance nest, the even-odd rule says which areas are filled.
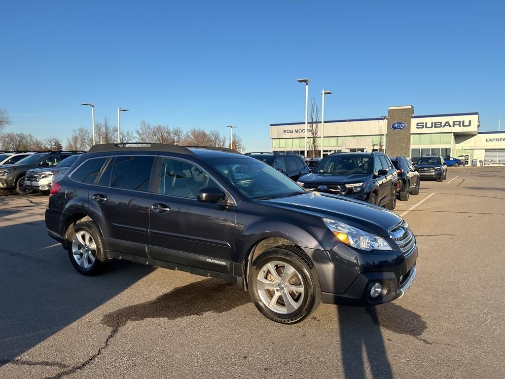
[[[382,237],[389,236],[389,229],[402,220],[396,213],[376,205],[318,192],[265,202],[283,209],[332,218]]]

